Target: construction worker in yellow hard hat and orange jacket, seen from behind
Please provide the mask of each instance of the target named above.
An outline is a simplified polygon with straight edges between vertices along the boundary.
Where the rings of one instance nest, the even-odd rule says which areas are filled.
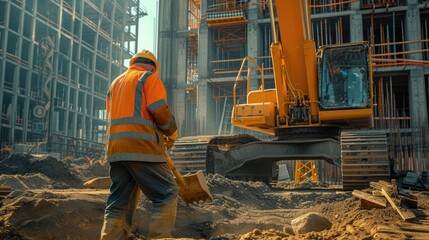
[[[128,238],[140,190],[153,203],[148,238],[171,237],[178,189],[164,154],[178,134],[158,71],[155,56],[143,50],[107,93],[106,156],[112,185],[101,239]]]

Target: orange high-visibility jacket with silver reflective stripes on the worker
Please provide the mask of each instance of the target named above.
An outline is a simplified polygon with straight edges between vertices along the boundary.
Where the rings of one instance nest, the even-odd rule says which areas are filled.
[[[109,162],[165,162],[163,135],[177,126],[164,84],[155,73],[133,65],[117,77],[106,99]]]

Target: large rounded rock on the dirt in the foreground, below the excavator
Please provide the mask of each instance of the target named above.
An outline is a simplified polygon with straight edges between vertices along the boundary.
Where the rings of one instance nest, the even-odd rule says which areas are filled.
[[[330,229],[332,223],[323,215],[310,212],[293,219],[291,225],[295,234],[302,234]]]

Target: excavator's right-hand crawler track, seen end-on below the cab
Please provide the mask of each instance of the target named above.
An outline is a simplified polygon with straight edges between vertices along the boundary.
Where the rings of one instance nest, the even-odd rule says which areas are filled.
[[[343,189],[364,189],[369,182],[390,180],[386,133],[383,130],[341,132]]]

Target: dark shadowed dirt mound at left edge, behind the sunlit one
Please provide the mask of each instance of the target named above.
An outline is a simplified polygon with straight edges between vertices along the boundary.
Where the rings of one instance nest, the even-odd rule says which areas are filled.
[[[26,175],[41,173],[55,182],[55,188],[81,187],[82,180],[77,173],[56,158],[33,157],[29,154],[12,154],[0,161],[0,173]]]

